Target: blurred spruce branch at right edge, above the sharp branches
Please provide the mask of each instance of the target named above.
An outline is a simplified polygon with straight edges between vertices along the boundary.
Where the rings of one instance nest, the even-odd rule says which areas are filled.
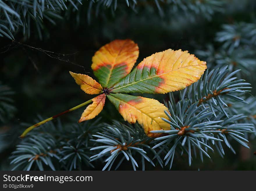
[[[196,51],[196,54],[210,64],[209,66],[228,65],[230,71],[242,69],[246,74],[255,69],[255,23],[223,24],[222,31],[216,33],[215,41],[220,42],[217,49],[209,44],[207,50]]]

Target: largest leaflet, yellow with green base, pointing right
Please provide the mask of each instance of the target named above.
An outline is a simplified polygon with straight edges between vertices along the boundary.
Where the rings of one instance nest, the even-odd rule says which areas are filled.
[[[144,58],[110,92],[164,94],[182,90],[198,81],[206,68],[206,62],[188,51],[168,49]]]

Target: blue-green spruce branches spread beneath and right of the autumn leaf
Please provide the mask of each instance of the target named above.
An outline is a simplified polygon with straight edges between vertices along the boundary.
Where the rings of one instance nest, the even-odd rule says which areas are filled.
[[[126,126],[117,122],[110,126],[107,124],[95,126],[98,120],[93,124],[86,122],[83,126],[75,125],[69,128],[63,128],[61,124],[55,127],[50,122],[47,126],[51,126],[51,130],[46,127],[43,133],[37,132],[17,146],[17,150],[13,152],[15,155],[11,157],[14,158],[11,164],[18,163],[15,169],[24,165],[25,167],[22,167],[24,170],[30,170],[33,163],[36,163],[37,168],[43,170],[44,163],[55,170],[52,160],[58,159],[59,169],[72,170],[82,169],[82,164],[93,167],[90,162],[104,158],[106,165],[103,170],[110,170],[115,163],[115,169],[118,169],[124,160],[129,160],[136,170],[140,158],[142,170],[145,170],[145,160],[155,166],[154,159],[162,167],[165,160],[164,165],[168,165],[171,169],[176,153],[188,154],[191,165],[192,156],[196,158],[197,153],[202,162],[203,156],[210,158],[210,151],[217,151],[223,158],[225,155],[223,144],[233,153],[236,153],[231,144],[234,141],[249,148],[245,134],[254,133],[254,125],[244,123],[242,120],[247,116],[241,113],[229,117],[227,114],[229,110],[224,101],[236,100],[247,104],[231,93],[244,93],[248,91],[244,89],[250,87],[243,88],[243,85],[250,84],[237,81],[236,77],[231,78],[239,71],[230,74],[227,72],[226,68],[211,70],[209,73],[207,70],[202,76],[203,80],[193,85],[198,89],[195,90],[193,86],[186,88],[180,94],[180,101],[177,103],[173,93],[170,93],[168,108],[171,115],[166,112],[170,120],[163,119],[170,124],[170,130],[151,131],[166,133],[165,136],[153,140],[144,134],[142,127]],[[215,93],[220,90],[222,92],[214,94],[213,90]],[[207,96],[203,96],[202,93]],[[225,106],[227,108],[224,108]],[[96,131],[99,132],[95,133]],[[92,151],[99,149],[102,151],[92,155]]]

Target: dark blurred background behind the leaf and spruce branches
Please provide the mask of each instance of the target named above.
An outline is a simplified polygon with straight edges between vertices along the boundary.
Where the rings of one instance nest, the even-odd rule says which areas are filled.
[[[78,11],[71,8],[62,11],[63,19],[54,19],[55,25],[44,20],[41,33],[31,21],[29,38],[22,31],[14,33],[15,40],[0,38],[0,82],[2,87],[10,88],[8,98],[13,100],[8,102],[10,106],[3,107],[0,120],[1,170],[12,168],[8,157],[21,141],[18,136],[38,115],[50,117],[93,97],[80,90],[69,71],[94,77],[90,68],[92,56],[114,39],[129,38],[138,43],[137,64],[152,53],[171,48],[195,53],[207,61],[209,68],[215,65],[241,68],[241,77],[252,84],[255,95],[255,42],[241,49],[240,57],[234,52],[242,46],[241,35],[252,33],[252,39],[256,39],[255,1],[137,1],[134,7],[133,1],[129,2],[128,7],[125,1],[118,1],[113,11],[113,3],[109,7],[102,3],[97,8],[97,2],[82,1]],[[223,28],[223,24],[233,29]],[[237,42],[236,38],[241,40]],[[223,46],[228,41],[238,45],[229,50]],[[146,96],[163,100],[167,95]],[[77,121],[83,109],[60,117],[62,123]],[[109,102],[99,116],[102,122],[122,121]],[[199,159],[193,161],[191,167],[186,158],[179,157],[173,169],[255,170],[255,144],[255,138],[251,139],[250,149],[234,143],[236,155],[227,150],[224,158],[216,153],[203,163]]]

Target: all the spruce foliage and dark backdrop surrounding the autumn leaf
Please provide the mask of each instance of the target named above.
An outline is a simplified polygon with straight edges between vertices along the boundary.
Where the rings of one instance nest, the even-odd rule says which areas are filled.
[[[53,0],[44,1],[44,11],[43,1],[22,6],[17,3],[22,1],[0,2],[0,35],[19,42],[8,45],[6,38],[0,39],[7,45],[0,47],[1,169],[256,169],[255,1],[88,0],[64,1],[67,8],[62,3],[61,9]],[[41,11],[35,13],[35,5]],[[68,71],[83,73],[81,65],[91,74],[94,52],[119,38],[139,44],[138,61],[168,48],[188,50],[207,61],[208,70],[190,87],[145,95],[166,103],[170,130],[148,138],[143,128],[124,122],[106,102],[96,121],[78,124],[80,110],[31,131],[21,141],[18,135],[31,125],[21,122],[91,99],[73,88]],[[5,84],[16,93],[1,89]],[[6,104],[10,107],[3,107]]]

